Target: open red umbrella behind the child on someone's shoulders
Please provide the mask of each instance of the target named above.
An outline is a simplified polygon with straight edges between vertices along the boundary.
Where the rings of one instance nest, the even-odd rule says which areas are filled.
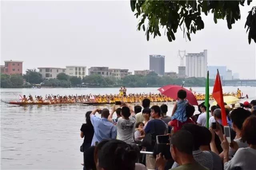
[[[194,94],[192,92],[190,92],[189,90],[187,90],[186,88],[183,88],[182,86],[166,85],[166,86],[159,88],[158,91],[161,94],[176,100],[178,98],[178,96],[177,96],[178,91],[181,89],[185,90],[187,92],[186,99],[188,100],[188,102],[192,105],[198,106],[198,103],[197,103],[197,100],[196,100],[196,97],[194,96]]]

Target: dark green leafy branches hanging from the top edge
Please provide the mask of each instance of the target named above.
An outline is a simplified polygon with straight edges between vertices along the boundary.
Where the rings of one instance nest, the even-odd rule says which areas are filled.
[[[131,0],[130,5],[132,11],[136,12],[136,18],[140,16],[138,30],[142,27],[146,31],[147,40],[152,34],[154,38],[161,36],[160,28],[163,28],[171,42],[176,39],[175,33],[179,27],[189,41],[191,33],[204,29],[202,13],[206,16],[213,13],[215,23],[218,19],[226,20],[228,29],[232,29],[232,24],[240,20],[240,6],[244,6],[244,2],[245,0]],[[247,0],[248,5],[250,2],[252,0]],[[255,22],[252,24],[256,25]],[[255,27],[253,30],[256,30]]]

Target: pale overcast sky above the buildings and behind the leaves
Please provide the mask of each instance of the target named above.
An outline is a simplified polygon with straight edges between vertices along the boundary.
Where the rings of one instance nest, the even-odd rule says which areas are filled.
[[[240,7],[241,20],[229,30],[226,20],[215,24],[204,16],[204,29],[176,40],[150,37],[137,31],[138,19],[130,1],[14,2],[1,1],[1,64],[5,60],[24,61],[27,68],[108,66],[133,70],[149,69],[149,55],[165,55],[165,71],[178,71],[178,50],[199,53],[208,50],[208,66],[227,66],[240,78],[256,75],[256,45],[248,44],[244,24],[248,11]],[[88,74],[88,70],[86,70]]]

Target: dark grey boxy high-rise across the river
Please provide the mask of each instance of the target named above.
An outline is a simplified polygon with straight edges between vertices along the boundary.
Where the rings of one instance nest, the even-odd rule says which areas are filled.
[[[154,70],[159,75],[164,75],[164,56],[149,55],[149,69]]]

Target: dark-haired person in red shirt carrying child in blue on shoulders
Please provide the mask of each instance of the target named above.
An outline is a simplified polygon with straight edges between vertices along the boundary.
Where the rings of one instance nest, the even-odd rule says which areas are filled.
[[[194,115],[195,112],[195,107],[188,105],[186,107],[186,115],[187,115],[187,120],[184,122],[180,122],[177,119],[174,119],[172,121],[170,121],[168,123],[168,126],[172,127],[172,131],[173,133],[175,133],[176,131],[180,130],[182,128],[182,126],[186,123],[192,123],[192,124],[196,124],[194,121],[192,121],[192,119],[190,117],[192,117]]]

